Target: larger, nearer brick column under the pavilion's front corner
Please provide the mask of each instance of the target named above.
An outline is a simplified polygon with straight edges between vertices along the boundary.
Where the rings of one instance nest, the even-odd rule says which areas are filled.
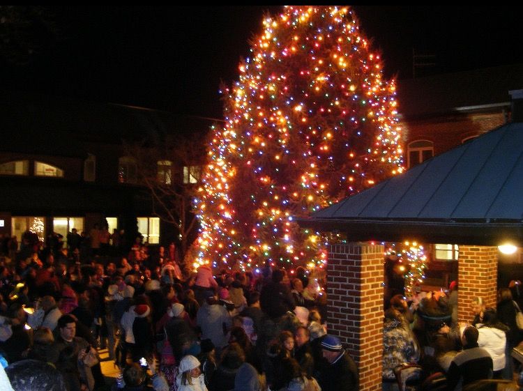
[[[332,245],[327,266],[328,333],[358,363],[361,391],[381,390],[384,247]]]

